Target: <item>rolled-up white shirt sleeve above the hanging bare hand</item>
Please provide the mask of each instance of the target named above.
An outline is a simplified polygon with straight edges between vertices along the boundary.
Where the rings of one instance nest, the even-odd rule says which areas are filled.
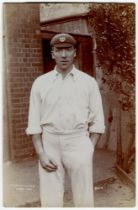
[[[42,133],[41,123],[40,123],[40,109],[41,109],[41,98],[38,91],[37,81],[35,81],[32,85],[30,93],[28,127],[26,129],[27,135]]]

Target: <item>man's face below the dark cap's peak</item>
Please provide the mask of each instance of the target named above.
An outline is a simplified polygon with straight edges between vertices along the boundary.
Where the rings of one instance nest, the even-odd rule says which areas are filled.
[[[68,70],[72,64],[74,57],[76,56],[76,49],[74,46],[69,47],[53,47],[52,58],[55,59],[57,67],[61,71]]]

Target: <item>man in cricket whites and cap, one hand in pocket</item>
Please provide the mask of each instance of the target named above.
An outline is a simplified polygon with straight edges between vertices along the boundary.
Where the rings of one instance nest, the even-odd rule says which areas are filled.
[[[95,79],[73,65],[75,47],[71,35],[54,36],[55,69],[38,77],[31,90],[27,134],[39,158],[42,207],[63,206],[65,169],[75,207],[94,205],[92,158],[104,116]]]

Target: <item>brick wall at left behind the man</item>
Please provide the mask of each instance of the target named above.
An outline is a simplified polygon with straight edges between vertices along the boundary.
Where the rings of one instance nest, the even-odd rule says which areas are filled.
[[[4,4],[4,73],[12,160],[34,154],[31,138],[25,134],[25,129],[32,82],[43,73],[42,43],[36,35],[36,30],[40,29],[39,6],[32,3]]]

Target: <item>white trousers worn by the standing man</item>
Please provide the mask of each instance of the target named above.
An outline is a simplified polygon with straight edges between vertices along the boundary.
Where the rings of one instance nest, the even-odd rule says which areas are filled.
[[[43,147],[58,169],[47,172],[39,163],[42,207],[63,207],[65,168],[71,178],[75,207],[93,207],[93,144],[87,133],[50,134],[44,130]]]

